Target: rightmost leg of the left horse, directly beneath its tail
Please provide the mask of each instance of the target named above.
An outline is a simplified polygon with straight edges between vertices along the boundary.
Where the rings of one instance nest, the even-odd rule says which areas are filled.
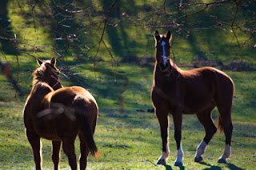
[[[80,139],[80,152],[81,152],[81,156],[79,160],[80,170],[85,170],[87,165],[87,156],[89,154],[89,149],[86,146],[86,138],[82,132],[79,133],[79,139]]]

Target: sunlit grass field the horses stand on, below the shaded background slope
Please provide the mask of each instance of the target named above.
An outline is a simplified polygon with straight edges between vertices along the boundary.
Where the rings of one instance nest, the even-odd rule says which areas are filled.
[[[166,166],[156,166],[161,154],[161,137],[158,121],[150,101],[152,70],[138,65],[120,66],[117,70],[101,68],[90,71],[89,65],[79,65],[79,84],[89,86],[98,101],[100,115],[94,139],[101,151],[96,161],[91,156],[88,169],[180,169],[173,166],[175,160],[174,127],[170,124],[170,159]],[[102,72],[102,69],[105,71]],[[104,74],[100,74],[104,73]],[[139,73],[138,76],[137,74]],[[202,140],[204,131],[195,116],[184,116],[182,146],[185,153],[181,169],[254,169],[255,152],[255,89],[256,75],[251,72],[230,72],[236,85],[234,97],[234,135],[232,156],[229,164],[218,164],[218,157],[224,149],[224,134],[217,133],[211,140],[201,164],[194,163],[195,148]],[[81,76],[83,75],[83,76]],[[85,76],[86,75],[86,76]],[[137,75],[137,76],[135,76]],[[27,76],[26,76],[27,77]],[[83,77],[83,78],[82,78]],[[30,144],[26,140],[22,120],[25,97],[16,97],[8,82],[1,78],[2,96],[0,101],[0,162],[2,169],[33,169],[34,160]],[[22,77],[21,81],[22,81]],[[26,86],[30,86],[26,79]],[[62,77],[64,85],[70,85]],[[94,82],[94,83],[93,83]],[[93,84],[92,84],[93,83]],[[217,117],[217,111],[213,113]],[[78,140],[76,153],[79,156]],[[42,140],[42,167],[52,169],[50,141]],[[69,169],[66,155],[62,152],[60,169]]]

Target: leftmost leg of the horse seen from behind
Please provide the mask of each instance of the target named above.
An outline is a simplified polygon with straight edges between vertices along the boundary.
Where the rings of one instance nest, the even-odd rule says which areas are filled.
[[[34,164],[36,170],[41,170],[41,144],[40,144],[40,136],[36,133],[31,132],[26,129],[27,139],[30,141],[31,147],[33,149],[34,155]]]

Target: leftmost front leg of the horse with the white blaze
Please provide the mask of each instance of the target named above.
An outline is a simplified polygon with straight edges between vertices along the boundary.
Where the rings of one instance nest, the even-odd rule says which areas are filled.
[[[168,144],[168,128],[169,128],[169,117],[166,111],[154,109],[155,114],[158,117],[158,122],[161,129],[162,137],[162,155],[158,158],[157,164],[166,164],[166,160],[169,157],[170,149]]]

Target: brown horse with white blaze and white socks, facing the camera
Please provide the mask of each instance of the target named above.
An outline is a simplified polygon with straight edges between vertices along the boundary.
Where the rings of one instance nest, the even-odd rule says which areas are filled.
[[[233,131],[231,108],[234,96],[234,83],[226,73],[212,67],[182,70],[170,59],[170,31],[166,35],[155,31],[155,65],[151,99],[158,117],[162,136],[162,156],[157,164],[166,164],[170,154],[168,144],[169,113],[174,121],[174,138],[177,144],[177,158],[174,166],[182,166],[182,114],[196,114],[206,131],[206,136],[198,145],[195,162],[202,161],[217,128],[211,117],[215,106],[218,108],[218,128],[224,130],[226,147],[218,163],[226,163],[230,156],[230,143]]]

